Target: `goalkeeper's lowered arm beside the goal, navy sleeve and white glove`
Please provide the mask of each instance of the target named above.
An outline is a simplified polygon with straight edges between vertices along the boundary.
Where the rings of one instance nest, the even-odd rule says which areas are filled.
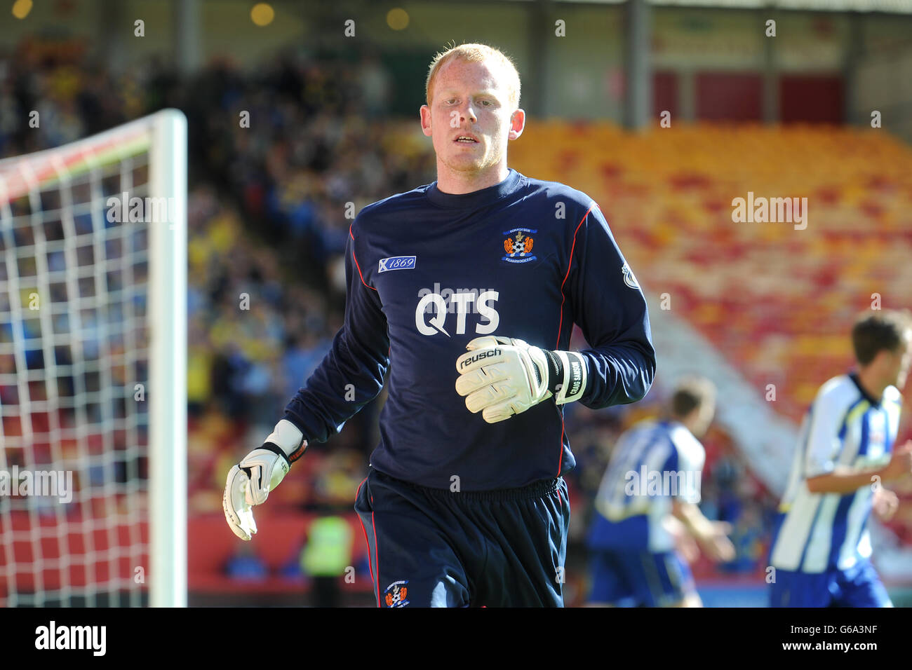
[[[352,226],[354,229],[354,226]],[[346,244],[345,323],[323,362],[285,407],[285,417],[260,448],[228,473],[222,498],[225,521],[235,535],[250,540],[256,532],[253,508],[285,478],[304,455],[307,442],[325,441],[348,418],[379,395],[389,366],[386,316],[375,291],[358,267],[354,235]]]

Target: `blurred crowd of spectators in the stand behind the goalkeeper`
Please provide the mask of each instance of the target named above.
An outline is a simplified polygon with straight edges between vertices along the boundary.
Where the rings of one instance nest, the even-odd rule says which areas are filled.
[[[352,64],[294,50],[255,71],[225,59],[183,79],[155,60],[114,74],[80,54],[55,57],[24,43],[0,64],[0,157],[159,108],[181,108],[189,120],[190,509],[218,512],[225,472],[272,428],[342,323],[354,212],[433,180],[430,140],[414,119],[409,134],[386,117],[389,73],[369,55]],[[33,109],[37,129],[28,125]],[[271,503],[350,509],[382,400],[314,445]],[[569,411],[579,463],[568,477],[571,541],[579,542],[617,436],[657,412],[658,400]],[[735,526],[739,557],[727,569],[755,571],[774,500],[731,436],[714,428],[706,443],[704,510]]]

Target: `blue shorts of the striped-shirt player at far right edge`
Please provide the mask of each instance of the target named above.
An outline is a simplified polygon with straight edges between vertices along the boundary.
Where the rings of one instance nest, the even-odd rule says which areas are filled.
[[[870,561],[848,570],[795,572],[776,568],[770,607],[892,607]]]

